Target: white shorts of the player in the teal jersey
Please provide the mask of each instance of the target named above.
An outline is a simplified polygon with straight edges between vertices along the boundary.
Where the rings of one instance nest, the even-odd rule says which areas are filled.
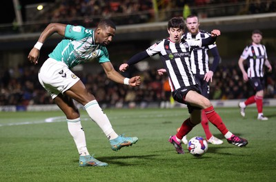
[[[79,77],[65,63],[52,58],[48,58],[39,70],[39,82],[52,99],[71,88],[77,81]]]

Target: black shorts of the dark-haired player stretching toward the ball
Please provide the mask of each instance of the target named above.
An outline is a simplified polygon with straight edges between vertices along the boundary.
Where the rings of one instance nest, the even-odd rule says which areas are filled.
[[[187,103],[185,101],[186,98],[186,94],[190,91],[193,90],[199,94],[201,94],[201,91],[199,89],[198,85],[191,85],[188,87],[181,87],[175,91],[172,92],[172,97],[173,99],[175,99],[175,101],[179,102],[179,103],[184,103],[188,106],[188,111],[189,113],[192,113],[193,110],[201,110],[201,108],[195,107],[193,105],[190,105],[190,103]]]

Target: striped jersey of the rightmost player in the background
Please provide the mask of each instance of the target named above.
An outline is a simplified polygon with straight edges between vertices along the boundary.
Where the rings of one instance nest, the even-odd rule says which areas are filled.
[[[248,77],[264,77],[264,62],[268,59],[266,54],[266,47],[262,44],[249,45],[244,48],[241,58],[247,60]]]

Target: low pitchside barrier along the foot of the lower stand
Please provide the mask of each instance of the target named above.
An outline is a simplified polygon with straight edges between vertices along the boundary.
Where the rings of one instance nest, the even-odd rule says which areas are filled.
[[[215,108],[222,107],[222,108],[235,108],[237,107],[238,103],[243,101],[241,99],[235,100],[211,100],[211,103],[214,105]],[[143,105],[142,105],[143,104]],[[108,108],[102,104],[102,108]],[[135,105],[133,108],[159,108],[159,103],[141,103]],[[264,99],[264,106],[276,106],[276,99]],[[249,105],[248,107],[256,107],[255,104]],[[78,108],[83,108],[82,105],[78,105]],[[121,108],[128,108],[121,107]],[[172,108],[186,108],[186,105],[175,103]],[[0,112],[20,112],[20,111],[54,111],[60,110],[59,107],[55,104],[48,104],[48,105],[3,105],[0,106]]]

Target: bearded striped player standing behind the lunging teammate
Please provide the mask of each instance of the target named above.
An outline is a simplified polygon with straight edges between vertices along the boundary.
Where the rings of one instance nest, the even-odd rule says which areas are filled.
[[[184,34],[184,39],[206,39],[207,37],[210,37],[208,32],[199,30],[199,19],[195,14],[191,14],[186,18],[186,27],[188,32]],[[212,53],[214,58],[212,67],[210,69],[208,51]],[[209,81],[212,82],[213,74],[217,69],[217,65],[219,65],[219,61],[219,50],[217,49],[216,43],[206,45],[201,48],[194,48],[190,54],[190,67],[192,68],[192,72],[195,75],[197,84],[201,89],[201,94],[208,99],[210,94]],[[210,132],[208,119],[204,110],[201,110],[201,125],[204,129],[208,143],[213,143],[215,145],[220,145],[223,143],[222,140],[217,139],[217,137],[213,136],[213,134]],[[188,143],[186,136],[184,136],[182,141],[185,144]]]

